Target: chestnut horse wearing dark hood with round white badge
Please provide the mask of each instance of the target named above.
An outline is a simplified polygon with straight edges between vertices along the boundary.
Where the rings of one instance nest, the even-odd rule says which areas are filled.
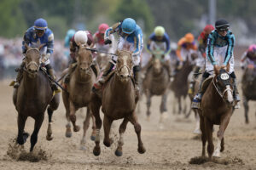
[[[208,86],[207,86],[208,84]],[[224,69],[215,70],[215,77],[208,78],[202,90],[201,109],[198,110],[201,126],[202,156],[206,156],[206,142],[208,156],[212,158],[214,145],[212,143],[213,125],[219,125],[217,132],[218,144],[213,156],[220,156],[224,151],[224,131],[230,122],[234,111],[233,79]]]

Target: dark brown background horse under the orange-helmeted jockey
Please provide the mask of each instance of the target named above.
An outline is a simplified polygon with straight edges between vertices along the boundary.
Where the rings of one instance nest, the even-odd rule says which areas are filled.
[[[185,114],[187,110],[186,97],[188,94],[188,77],[189,73],[192,71],[193,65],[190,63],[189,59],[183,65],[183,68],[177,72],[174,77],[173,82],[171,83],[171,90],[174,93],[174,105],[173,105],[173,114],[176,113],[176,104],[178,104],[178,114],[182,111]],[[182,99],[183,99],[183,107],[182,107]]]

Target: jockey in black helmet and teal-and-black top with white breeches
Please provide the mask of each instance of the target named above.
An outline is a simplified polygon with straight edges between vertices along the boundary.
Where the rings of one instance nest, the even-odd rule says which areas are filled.
[[[236,85],[236,75],[234,71],[234,54],[233,48],[235,44],[235,36],[229,31],[230,24],[224,19],[217,20],[215,22],[216,30],[212,31],[207,39],[207,61],[206,61],[206,71],[202,75],[200,82],[200,88],[198,94],[195,95],[192,108],[198,109],[201,104],[202,91],[201,86],[207,77],[212,74],[212,71],[217,67],[217,65],[222,64],[222,67],[230,65],[230,77],[234,79],[234,92],[235,99],[237,101],[235,108],[239,108],[240,97],[238,94],[238,89]]]

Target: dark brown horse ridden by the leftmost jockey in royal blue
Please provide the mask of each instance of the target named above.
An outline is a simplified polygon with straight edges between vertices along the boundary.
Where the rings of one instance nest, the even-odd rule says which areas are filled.
[[[30,151],[33,150],[38,141],[38,132],[44,121],[44,111],[47,108],[49,125],[46,139],[51,140],[51,116],[60,103],[60,95],[55,94],[50,88],[49,79],[40,70],[40,53],[38,48],[26,46],[25,68],[19,88],[15,89],[13,102],[18,111],[18,137],[17,143],[24,144],[28,133],[24,132],[26,119],[31,116],[35,120],[34,131],[31,136]]]

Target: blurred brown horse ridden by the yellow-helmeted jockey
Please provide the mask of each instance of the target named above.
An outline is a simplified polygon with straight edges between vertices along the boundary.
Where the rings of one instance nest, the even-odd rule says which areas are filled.
[[[162,64],[161,54],[154,54],[153,65],[148,69],[143,79],[143,91],[147,97],[147,116],[149,120],[151,97],[154,95],[161,96],[160,104],[160,122],[163,120],[163,113],[166,109],[166,99],[170,85],[169,74],[166,67]]]

